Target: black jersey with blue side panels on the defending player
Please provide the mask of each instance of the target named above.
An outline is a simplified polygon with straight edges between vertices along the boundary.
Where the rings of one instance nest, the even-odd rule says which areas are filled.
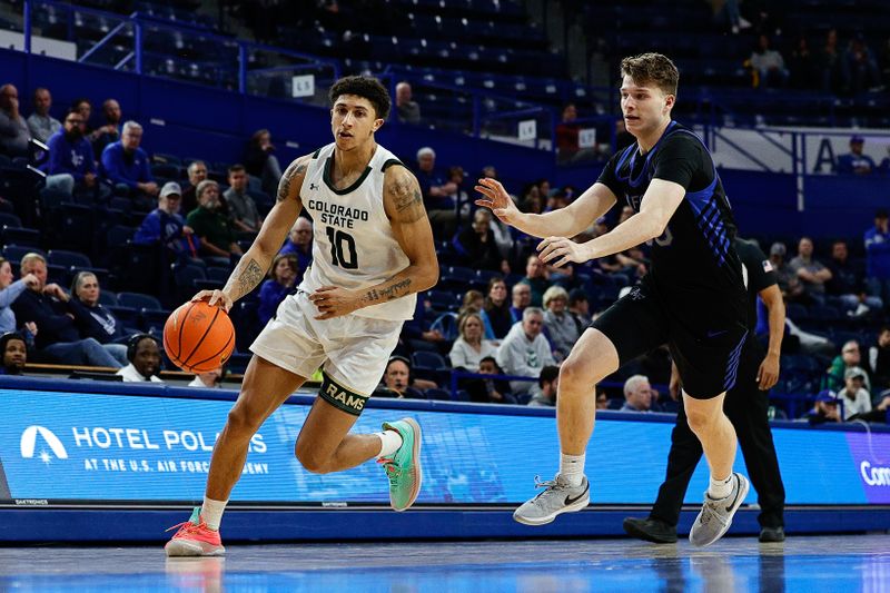
[[[652,179],[679,184],[686,195],[662,236],[652,241],[649,281],[660,296],[684,308],[694,310],[695,304],[720,299],[732,302],[734,309],[741,303],[744,310],[742,264],[732,245],[735,223],[702,140],[671,121],[645,155],[636,142],[615,154],[599,181],[639,213]]]

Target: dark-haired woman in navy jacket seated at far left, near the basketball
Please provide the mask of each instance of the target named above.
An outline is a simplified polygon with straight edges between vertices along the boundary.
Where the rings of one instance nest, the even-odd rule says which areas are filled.
[[[78,271],[71,280],[71,308],[81,338],[95,338],[96,342],[125,366],[127,346],[116,342],[126,336],[123,326],[115,318],[115,314],[99,303],[99,278],[91,271]]]

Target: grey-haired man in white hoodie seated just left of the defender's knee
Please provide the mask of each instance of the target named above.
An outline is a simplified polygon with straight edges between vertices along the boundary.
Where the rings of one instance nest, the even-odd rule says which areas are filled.
[[[497,349],[497,364],[504,373],[537,378],[542,368],[556,364],[550,352],[550,344],[542,334],[543,328],[544,312],[537,307],[527,307],[522,313],[522,322],[513,325]],[[514,380],[510,388],[522,402],[521,396],[527,395],[532,385],[530,382]]]

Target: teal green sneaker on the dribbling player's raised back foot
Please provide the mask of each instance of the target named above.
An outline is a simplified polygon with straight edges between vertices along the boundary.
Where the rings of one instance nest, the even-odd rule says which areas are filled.
[[[390,457],[380,457],[389,478],[389,504],[394,511],[406,511],[421,493],[424,478],[421,467],[421,425],[414,418],[383,423],[384,431],[402,435],[402,446]]]

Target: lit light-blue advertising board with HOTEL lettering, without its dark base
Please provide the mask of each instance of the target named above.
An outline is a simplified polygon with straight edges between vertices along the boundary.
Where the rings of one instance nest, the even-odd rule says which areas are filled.
[[[85,391],[96,387],[85,385]],[[19,505],[200,501],[214,443],[233,405],[220,399],[19,388],[0,388],[0,498]],[[425,402],[417,403],[418,409],[373,405],[372,401],[355,431],[377,432],[382,422],[406,415],[423,426],[419,503],[521,503],[534,495],[536,474],[550,480],[557,470],[553,415],[518,415],[524,411],[511,406],[492,413],[488,406],[464,405],[455,412],[431,408]],[[250,441],[231,500],[388,505],[386,476],[373,462],[327,475],[300,466],[294,444],[308,411],[306,404],[287,404],[263,425]],[[672,421],[651,422],[653,416],[642,414],[603,416],[587,449],[592,502],[651,504],[664,477]],[[773,435],[788,504],[890,503],[890,434],[774,427]],[[744,472],[741,454],[736,468]],[[706,480],[702,462],[688,503],[701,502]],[[755,502],[752,488],[748,503]]]

